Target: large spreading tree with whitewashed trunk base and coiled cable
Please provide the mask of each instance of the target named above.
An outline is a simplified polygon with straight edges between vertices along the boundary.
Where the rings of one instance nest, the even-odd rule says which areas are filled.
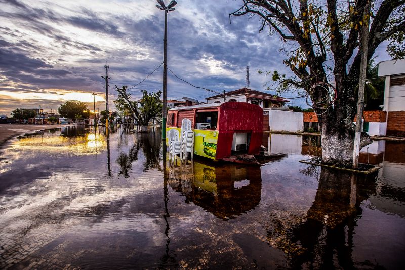
[[[285,42],[281,48],[286,53],[284,63],[294,76],[268,72],[281,90],[304,89],[312,102],[328,101],[330,93],[321,87],[311,90],[311,86],[316,82],[335,83],[333,104],[315,108],[321,127],[322,162],[351,166],[361,57],[359,32],[368,26],[371,17],[368,60],[384,41],[389,42],[388,53],[392,57],[405,57],[405,0],[372,1],[371,12],[365,10],[367,0],[242,2],[231,15],[259,16],[260,30],[269,27],[270,35],[278,34]],[[363,133],[361,145],[369,143],[370,138]]]

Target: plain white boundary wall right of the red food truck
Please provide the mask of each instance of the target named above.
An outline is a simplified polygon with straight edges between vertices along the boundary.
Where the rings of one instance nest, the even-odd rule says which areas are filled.
[[[270,131],[302,132],[303,118],[302,112],[270,110]]]

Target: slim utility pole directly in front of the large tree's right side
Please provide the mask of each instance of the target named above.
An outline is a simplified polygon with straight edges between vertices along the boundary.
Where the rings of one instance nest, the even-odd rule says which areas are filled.
[[[358,167],[358,155],[360,152],[360,138],[362,130],[362,118],[364,109],[364,90],[366,87],[366,71],[367,71],[367,54],[369,47],[369,23],[370,23],[370,1],[367,2],[364,12],[364,21],[361,28],[361,62],[360,62],[360,78],[358,82],[358,99],[357,99],[357,115],[356,115],[356,133],[354,135],[353,149],[353,168]]]

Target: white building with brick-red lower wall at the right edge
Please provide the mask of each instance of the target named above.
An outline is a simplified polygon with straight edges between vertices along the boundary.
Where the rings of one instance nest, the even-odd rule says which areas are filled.
[[[387,113],[387,135],[405,135],[405,59],[378,64],[378,76],[385,78],[383,111]]]

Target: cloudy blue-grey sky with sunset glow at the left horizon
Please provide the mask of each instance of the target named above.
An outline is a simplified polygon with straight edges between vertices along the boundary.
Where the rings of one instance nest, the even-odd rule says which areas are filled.
[[[168,0],[165,1],[168,4]],[[258,18],[233,17],[239,0],[178,0],[168,16],[168,67],[180,78],[215,91],[252,89],[270,80],[258,70],[289,73],[280,38],[259,33]],[[16,107],[50,112],[67,100],[104,110],[104,65],[109,68],[110,108],[114,85],[134,86],[163,61],[164,12],[155,0],[0,0],[0,114]],[[389,57],[380,49],[378,61]],[[161,89],[162,68],[131,89]],[[274,93],[274,91],[267,91]],[[215,95],[193,88],[168,72],[168,98],[204,101]],[[291,94],[294,96],[294,94]],[[285,96],[289,96],[288,94]],[[293,101],[293,100],[292,100]],[[293,105],[305,107],[303,100]]]

